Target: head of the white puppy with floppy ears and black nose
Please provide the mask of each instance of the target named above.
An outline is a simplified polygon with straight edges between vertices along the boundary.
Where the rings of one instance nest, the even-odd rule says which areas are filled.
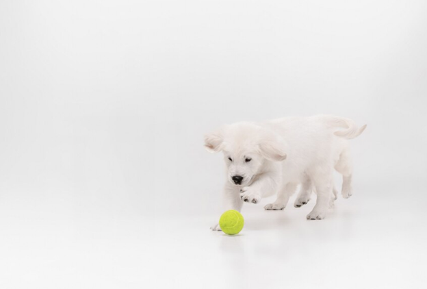
[[[280,136],[253,123],[226,125],[205,136],[207,151],[224,153],[227,179],[236,186],[247,186],[266,162],[285,160],[283,146]]]

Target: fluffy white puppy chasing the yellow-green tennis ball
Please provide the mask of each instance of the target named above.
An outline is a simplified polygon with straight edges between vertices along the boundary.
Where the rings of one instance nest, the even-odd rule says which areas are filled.
[[[277,194],[276,201],[264,208],[283,210],[301,184],[295,207],[305,205],[314,189],[318,197],[307,219],[321,220],[336,199],[334,168],[343,175],[343,197],[352,194],[348,140],[365,127],[357,127],[348,118],[319,115],[235,123],[207,134],[207,151],[224,153],[226,209],[240,211],[244,202],[259,203],[263,197]],[[219,231],[220,227],[216,224],[211,229]]]

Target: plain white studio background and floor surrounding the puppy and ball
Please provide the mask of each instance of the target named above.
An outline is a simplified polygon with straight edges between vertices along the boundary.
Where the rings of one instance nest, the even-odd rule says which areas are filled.
[[[0,287],[425,284],[426,51],[425,1],[1,1]],[[312,114],[367,123],[354,197],[210,232],[203,134]]]

